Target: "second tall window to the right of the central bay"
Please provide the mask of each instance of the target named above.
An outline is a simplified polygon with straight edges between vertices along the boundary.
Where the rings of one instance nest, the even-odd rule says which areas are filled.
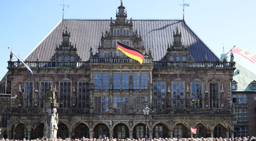
[[[184,108],[184,82],[172,83],[172,104],[175,108]]]

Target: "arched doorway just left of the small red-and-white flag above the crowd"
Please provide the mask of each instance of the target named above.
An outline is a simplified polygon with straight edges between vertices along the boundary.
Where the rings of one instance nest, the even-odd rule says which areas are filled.
[[[178,123],[173,128],[173,137],[174,138],[190,138],[190,132],[188,132],[188,128],[182,124]]]

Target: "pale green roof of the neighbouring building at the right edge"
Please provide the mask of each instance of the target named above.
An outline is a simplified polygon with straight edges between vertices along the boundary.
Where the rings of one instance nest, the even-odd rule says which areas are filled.
[[[237,90],[232,91],[256,91],[251,89],[251,82],[256,81],[256,74],[248,71],[243,66],[236,63],[236,70],[233,80],[237,82]]]

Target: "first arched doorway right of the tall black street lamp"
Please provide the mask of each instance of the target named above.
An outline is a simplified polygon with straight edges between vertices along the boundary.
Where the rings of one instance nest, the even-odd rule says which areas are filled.
[[[153,138],[169,138],[169,129],[166,125],[159,123],[153,128]]]

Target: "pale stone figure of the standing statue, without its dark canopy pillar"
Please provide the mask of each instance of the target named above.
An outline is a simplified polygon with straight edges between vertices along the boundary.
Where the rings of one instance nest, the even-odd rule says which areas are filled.
[[[57,109],[53,108],[51,113],[51,121],[50,121],[50,129],[52,129],[52,133],[50,133],[52,139],[57,138],[57,130],[58,130],[58,124],[57,124],[57,117],[56,117]]]

